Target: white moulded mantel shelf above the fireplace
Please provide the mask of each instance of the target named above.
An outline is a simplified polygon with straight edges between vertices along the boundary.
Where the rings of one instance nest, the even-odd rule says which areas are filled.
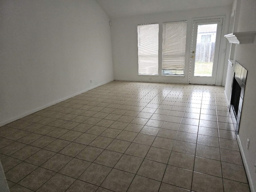
[[[230,43],[235,44],[248,44],[253,43],[256,35],[256,31],[249,32],[234,32],[231,34],[224,35]]]

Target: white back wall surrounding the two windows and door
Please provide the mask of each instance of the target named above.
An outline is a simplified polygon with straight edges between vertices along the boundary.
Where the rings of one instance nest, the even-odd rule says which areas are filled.
[[[146,82],[172,82],[187,83],[189,60],[190,60],[190,42],[192,18],[226,16],[224,22],[224,33],[228,32],[228,20],[231,13],[231,6],[204,8],[196,10],[175,11],[159,14],[147,14],[140,16],[115,18],[112,20],[111,36],[114,62],[115,80],[146,81]],[[185,58],[185,77],[174,76],[148,76],[138,75],[138,45],[137,45],[137,25],[146,23],[159,23],[159,71],[162,63],[162,23],[187,20],[187,40],[186,40],[186,58]],[[223,34],[224,34],[223,33]],[[224,62],[226,56],[227,40],[223,38],[222,50],[220,52],[220,76],[218,85],[222,84],[222,75],[224,71]],[[150,80],[152,78],[152,80]],[[224,76],[226,78],[226,76]]]

